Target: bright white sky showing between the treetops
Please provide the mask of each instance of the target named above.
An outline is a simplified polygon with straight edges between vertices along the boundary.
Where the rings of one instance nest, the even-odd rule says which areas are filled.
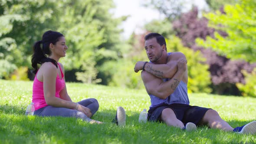
[[[116,8],[113,10],[115,17],[130,15],[130,17],[121,24],[121,28],[124,29],[124,33],[122,33],[124,39],[128,39],[133,31],[140,33],[141,27],[143,27],[145,23],[154,19],[160,20],[164,17],[157,10],[143,7],[143,1],[144,0],[114,0],[116,5]],[[199,10],[207,7],[204,0],[189,1],[190,3],[188,3],[187,6],[188,10],[192,3],[197,5]]]

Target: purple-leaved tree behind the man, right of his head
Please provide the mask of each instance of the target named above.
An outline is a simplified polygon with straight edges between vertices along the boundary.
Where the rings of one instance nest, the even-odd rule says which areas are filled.
[[[190,12],[184,13],[179,20],[174,21],[173,28],[176,35],[182,39],[184,46],[195,51],[200,50],[207,59],[210,66],[211,81],[213,83],[213,92],[218,94],[240,95],[236,83],[244,83],[244,75],[242,69],[252,72],[256,64],[249,64],[245,61],[233,61],[225,56],[218,55],[211,49],[204,49],[198,46],[195,39],[206,39],[207,36],[214,36],[215,32],[225,37],[227,33],[216,31],[214,28],[207,26],[208,20],[205,17],[198,18],[198,10],[196,7]]]

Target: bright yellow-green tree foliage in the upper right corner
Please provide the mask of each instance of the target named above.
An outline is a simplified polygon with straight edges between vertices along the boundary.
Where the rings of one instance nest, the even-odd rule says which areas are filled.
[[[205,14],[209,26],[222,30],[228,36],[223,37],[214,33],[214,37],[207,36],[206,40],[198,39],[201,46],[211,48],[220,55],[230,59],[243,59],[256,62],[256,0],[240,0],[236,5],[226,5],[226,14]]]

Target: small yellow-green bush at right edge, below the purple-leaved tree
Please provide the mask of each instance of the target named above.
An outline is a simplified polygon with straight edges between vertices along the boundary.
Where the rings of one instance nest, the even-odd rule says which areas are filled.
[[[236,86],[243,96],[256,97],[256,68],[252,73],[248,73],[245,70],[242,70],[242,73],[245,75],[246,84],[236,83]]]

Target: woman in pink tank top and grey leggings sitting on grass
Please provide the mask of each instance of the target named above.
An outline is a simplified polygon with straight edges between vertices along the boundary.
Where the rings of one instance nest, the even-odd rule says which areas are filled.
[[[35,106],[34,115],[75,117],[90,123],[101,124],[100,121],[90,119],[99,107],[95,98],[76,103],[72,102],[67,93],[64,67],[58,62],[61,57],[66,56],[68,49],[65,37],[59,32],[46,31],[43,39],[36,42],[33,49],[31,61],[33,72],[36,74],[32,96]],[[37,64],[41,64],[39,69]]]

